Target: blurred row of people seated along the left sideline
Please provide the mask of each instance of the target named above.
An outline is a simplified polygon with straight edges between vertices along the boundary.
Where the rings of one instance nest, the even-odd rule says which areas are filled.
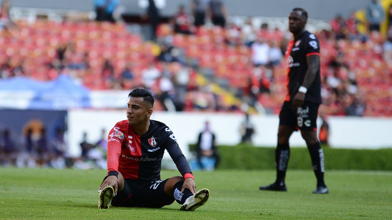
[[[56,129],[56,135],[48,140],[46,129],[38,132],[27,129],[20,139],[9,130],[4,130],[0,135],[0,165],[28,167],[53,167],[64,169],[106,169],[107,133],[102,130],[101,137],[96,142],[87,141],[87,133],[83,133],[80,143],[82,154],[80,157],[69,155],[68,143],[65,141],[64,130]]]

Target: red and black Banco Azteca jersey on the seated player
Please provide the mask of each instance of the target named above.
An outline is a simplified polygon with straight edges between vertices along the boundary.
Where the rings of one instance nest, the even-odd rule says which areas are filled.
[[[140,136],[133,132],[127,120],[120,121],[109,132],[107,170],[120,172],[125,179],[160,180],[165,149],[181,175],[185,178],[191,175],[187,159],[166,124],[150,120],[148,131]]]

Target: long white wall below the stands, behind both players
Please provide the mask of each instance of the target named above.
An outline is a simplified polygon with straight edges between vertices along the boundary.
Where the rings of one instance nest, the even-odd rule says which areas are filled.
[[[235,145],[240,142],[239,128],[243,121],[241,114],[202,114],[154,112],[152,118],[162,121],[174,132],[178,144],[185,156],[189,154],[188,144],[197,141],[198,133],[204,122],[210,121],[211,130],[216,133],[218,144]],[[114,124],[125,120],[125,110],[96,111],[71,110],[68,112],[68,141],[71,154],[80,153],[79,143],[82,133],[87,132],[89,141],[96,142],[102,128],[108,133]],[[253,143],[256,146],[276,146],[279,118],[277,115],[252,115],[251,121],[256,128]],[[330,144],[335,148],[370,148],[392,147],[390,133],[392,118],[330,117]],[[321,121],[318,121],[321,125]],[[299,132],[290,138],[291,146],[305,146]]]

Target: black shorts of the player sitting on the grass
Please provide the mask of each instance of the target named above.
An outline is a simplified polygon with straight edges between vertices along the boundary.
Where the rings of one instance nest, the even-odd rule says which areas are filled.
[[[124,179],[124,188],[113,197],[111,205],[151,208],[162,208],[170,205],[174,202],[174,197],[165,193],[164,188],[167,180],[138,181]]]

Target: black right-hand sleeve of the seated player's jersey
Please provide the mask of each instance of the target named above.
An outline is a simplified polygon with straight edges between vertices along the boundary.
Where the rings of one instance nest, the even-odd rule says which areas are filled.
[[[184,176],[186,173],[192,173],[191,167],[178,146],[177,139],[173,132],[168,127],[165,127],[161,132],[163,132],[162,139],[164,140],[165,149],[169,152],[170,157],[176,164],[181,175]]]

